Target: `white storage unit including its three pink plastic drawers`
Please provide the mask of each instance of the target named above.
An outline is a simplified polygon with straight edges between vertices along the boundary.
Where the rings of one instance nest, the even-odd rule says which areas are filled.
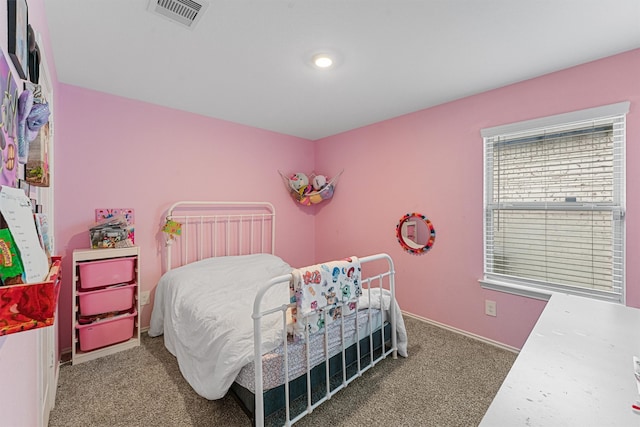
[[[73,251],[72,363],[140,345],[140,249]]]

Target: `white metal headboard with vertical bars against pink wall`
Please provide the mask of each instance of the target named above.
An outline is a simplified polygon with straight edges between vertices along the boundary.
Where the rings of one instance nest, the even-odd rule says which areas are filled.
[[[269,202],[176,202],[167,221],[181,224],[165,234],[166,271],[204,258],[275,252],[276,212]]]

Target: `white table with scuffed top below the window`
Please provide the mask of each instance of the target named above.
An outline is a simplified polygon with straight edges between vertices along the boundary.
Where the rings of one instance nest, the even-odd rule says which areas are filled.
[[[640,426],[640,310],[554,294],[480,426]]]

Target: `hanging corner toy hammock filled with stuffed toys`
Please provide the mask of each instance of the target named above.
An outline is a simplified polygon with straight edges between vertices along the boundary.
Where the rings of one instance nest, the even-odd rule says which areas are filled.
[[[310,206],[333,197],[338,179],[344,171],[340,171],[340,173],[331,179],[325,175],[316,175],[315,173],[306,175],[298,172],[286,175],[280,171],[278,172],[287,190],[289,190],[291,197],[302,205]]]

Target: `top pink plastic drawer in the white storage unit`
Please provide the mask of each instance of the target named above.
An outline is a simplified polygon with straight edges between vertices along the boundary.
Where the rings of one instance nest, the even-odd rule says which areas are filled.
[[[135,262],[135,257],[131,257],[80,263],[80,289],[131,282],[134,278]]]

